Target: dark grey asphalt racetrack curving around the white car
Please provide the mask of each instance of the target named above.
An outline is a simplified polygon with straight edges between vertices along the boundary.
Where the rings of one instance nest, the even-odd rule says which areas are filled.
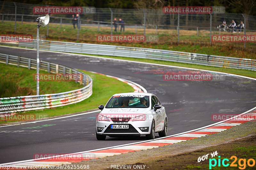
[[[36,58],[36,51],[31,50],[0,47],[0,52]],[[40,52],[39,56],[45,61],[113,75],[142,85],[164,105],[168,135],[216,123],[211,120],[212,114],[235,115],[256,104],[256,81],[245,78],[225,75],[225,81],[163,81],[164,72],[186,69],[50,52]],[[98,141],[95,137],[96,114],[0,128],[0,163],[33,159],[35,153],[80,152],[146,140],[141,136],[107,137],[105,141]]]

